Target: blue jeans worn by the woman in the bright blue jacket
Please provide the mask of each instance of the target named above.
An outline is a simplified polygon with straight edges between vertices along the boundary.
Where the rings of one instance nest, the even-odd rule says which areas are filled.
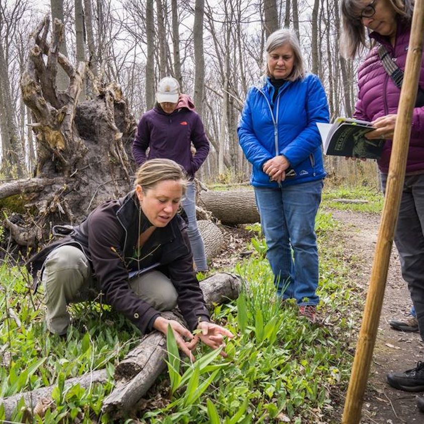
[[[314,227],[322,186],[319,180],[278,189],[255,187],[277,294],[296,299],[298,305],[319,302]]]

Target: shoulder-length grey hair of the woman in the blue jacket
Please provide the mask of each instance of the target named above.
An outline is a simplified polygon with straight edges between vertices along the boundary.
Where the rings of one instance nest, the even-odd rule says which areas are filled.
[[[271,75],[270,70],[268,69],[269,54],[284,44],[288,44],[293,49],[294,53],[293,70],[287,79],[289,81],[295,81],[296,79],[303,78],[305,76],[305,67],[299,39],[297,38],[297,34],[288,28],[274,31],[267,38],[267,43],[265,45],[265,75]]]

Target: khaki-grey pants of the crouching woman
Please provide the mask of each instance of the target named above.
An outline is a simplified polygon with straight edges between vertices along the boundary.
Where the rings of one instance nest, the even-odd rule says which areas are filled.
[[[101,301],[90,262],[74,246],[64,245],[46,258],[41,278],[47,307],[46,323],[52,333],[65,334],[70,323],[67,305],[86,300]],[[129,282],[131,289],[159,311],[177,306],[177,291],[159,271],[150,271]]]

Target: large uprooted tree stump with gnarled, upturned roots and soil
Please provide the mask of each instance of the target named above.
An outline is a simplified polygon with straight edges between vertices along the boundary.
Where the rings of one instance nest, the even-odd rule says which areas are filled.
[[[20,194],[31,210],[27,222],[34,234],[20,237],[20,229],[14,228],[18,244],[37,245],[47,238],[51,224],[78,223],[102,201],[124,195],[132,187],[135,169],[128,151],[136,122],[121,89],[90,74],[95,98],[78,103],[86,63],[73,66],[59,52],[59,20],[54,21],[50,40],[49,27],[46,16],[29,41],[21,75],[22,97],[33,115],[37,143],[34,178],[0,185],[0,199]],[[56,86],[58,66],[69,77],[65,91]]]

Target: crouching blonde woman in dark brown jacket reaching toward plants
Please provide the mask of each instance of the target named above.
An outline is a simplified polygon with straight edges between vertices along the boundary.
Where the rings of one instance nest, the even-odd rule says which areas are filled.
[[[232,337],[209,321],[193,271],[186,223],[177,214],[185,188],[180,165],[148,160],[138,169],[134,191],[102,203],[80,225],[68,227],[65,238],[30,260],[35,284],[41,276],[51,332],[66,333],[67,304],[97,296],[144,333],[166,333],[171,324],[190,358],[197,342],[194,329],[202,330],[200,339],[213,349],[224,344],[224,335]],[[189,328],[160,315],[177,305]]]

